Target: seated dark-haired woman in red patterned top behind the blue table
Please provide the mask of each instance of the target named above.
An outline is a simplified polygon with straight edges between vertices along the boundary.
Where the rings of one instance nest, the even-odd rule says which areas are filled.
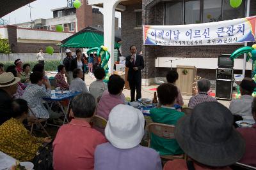
[[[58,66],[58,73],[55,76],[56,80],[56,87],[60,87],[61,90],[68,90],[69,85],[65,80],[64,74],[66,73],[65,66],[59,65]]]

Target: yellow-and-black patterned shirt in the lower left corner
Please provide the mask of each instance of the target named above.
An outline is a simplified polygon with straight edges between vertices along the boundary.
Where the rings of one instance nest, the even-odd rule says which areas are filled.
[[[33,159],[44,140],[31,136],[15,118],[10,118],[0,126],[0,136],[0,150],[19,161]]]

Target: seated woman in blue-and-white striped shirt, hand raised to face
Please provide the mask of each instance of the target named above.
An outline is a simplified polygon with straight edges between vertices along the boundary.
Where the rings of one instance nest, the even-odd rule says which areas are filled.
[[[42,103],[43,98],[51,97],[51,86],[44,79],[44,75],[40,72],[33,72],[30,75],[31,85],[26,88],[22,99],[28,101],[28,106],[31,108],[37,118],[59,118],[60,113],[55,113],[52,110],[48,112]],[[42,85],[45,85],[46,90]],[[30,113],[31,115],[31,113]]]

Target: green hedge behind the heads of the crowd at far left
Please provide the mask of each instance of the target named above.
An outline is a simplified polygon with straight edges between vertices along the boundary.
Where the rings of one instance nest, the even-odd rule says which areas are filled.
[[[14,65],[14,61],[8,61],[8,62],[1,62],[2,64],[4,64],[4,70],[6,70],[6,68],[8,66]],[[23,62],[23,64],[30,64],[31,66],[31,70],[32,68],[35,66],[35,64],[38,64],[38,61],[29,61],[29,62]],[[56,71],[57,67],[61,64],[61,60],[45,60],[44,61],[44,69],[45,71]]]

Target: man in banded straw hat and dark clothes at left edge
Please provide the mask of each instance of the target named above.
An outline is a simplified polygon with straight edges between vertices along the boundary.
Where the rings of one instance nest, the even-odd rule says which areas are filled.
[[[17,92],[19,77],[12,73],[0,74],[0,125],[11,118],[12,96]]]

